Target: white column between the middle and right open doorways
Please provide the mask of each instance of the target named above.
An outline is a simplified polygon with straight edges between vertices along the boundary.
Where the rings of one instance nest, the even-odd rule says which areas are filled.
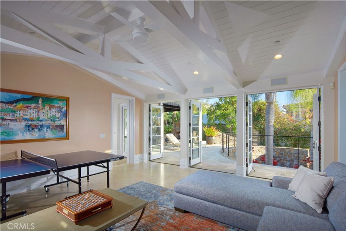
[[[245,94],[237,90],[237,175],[245,176]]]

